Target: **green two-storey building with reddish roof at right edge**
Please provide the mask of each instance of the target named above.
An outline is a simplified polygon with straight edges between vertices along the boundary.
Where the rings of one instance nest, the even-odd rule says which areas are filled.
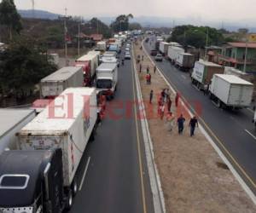
[[[256,72],[256,43],[227,43],[224,45],[221,55],[219,55],[219,64],[232,66],[243,71],[246,49],[246,72]]]

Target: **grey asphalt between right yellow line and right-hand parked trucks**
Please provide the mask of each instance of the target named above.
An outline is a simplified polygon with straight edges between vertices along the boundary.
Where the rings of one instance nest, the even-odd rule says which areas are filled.
[[[234,122],[234,112],[220,110],[215,107],[212,101],[202,95],[201,91],[191,86],[189,78],[182,78],[182,75],[186,77],[188,74],[178,71],[168,61],[164,61],[163,63],[157,62],[156,64],[188,101],[200,104],[202,109],[201,118],[218,135],[218,138],[224,141],[225,147],[239,160],[239,164],[247,170],[247,174],[252,176],[254,180],[256,170],[253,162],[256,160],[254,154],[256,143],[253,137],[241,128],[239,122]],[[236,113],[238,114],[237,118],[240,118],[239,114],[243,114],[242,111]],[[254,188],[253,191],[255,192]]]

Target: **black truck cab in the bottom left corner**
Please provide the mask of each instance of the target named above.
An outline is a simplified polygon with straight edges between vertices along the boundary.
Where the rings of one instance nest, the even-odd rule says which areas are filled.
[[[68,206],[61,149],[5,151],[0,156],[0,212],[61,212]]]

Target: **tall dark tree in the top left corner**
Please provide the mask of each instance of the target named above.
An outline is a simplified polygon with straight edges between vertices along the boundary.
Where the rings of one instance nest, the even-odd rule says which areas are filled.
[[[9,28],[10,40],[12,40],[13,31],[20,34],[22,25],[14,0],[3,0],[0,3],[0,24]]]

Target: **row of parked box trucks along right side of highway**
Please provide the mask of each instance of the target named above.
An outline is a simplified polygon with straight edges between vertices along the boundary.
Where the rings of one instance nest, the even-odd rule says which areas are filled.
[[[239,71],[207,60],[195,61],[195,55],[185,53],[179,43],[156,40],[156,48],[158,42],[160,53],[180,70],[192,70],[192,84],[197,89],[204,90],[218,107],[230,109],[250,107],[253,98],[253,83],[238,77],[235,73]],[[231,70],[232,73],[230,73]]]

